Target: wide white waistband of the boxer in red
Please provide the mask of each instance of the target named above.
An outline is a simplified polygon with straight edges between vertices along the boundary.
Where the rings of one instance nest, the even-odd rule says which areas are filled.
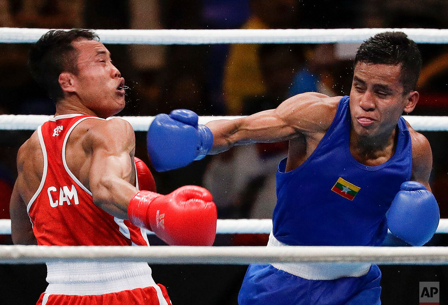
[[[156,286],[146,262],[47,262],[47,282],[45,293],[78,296]]]

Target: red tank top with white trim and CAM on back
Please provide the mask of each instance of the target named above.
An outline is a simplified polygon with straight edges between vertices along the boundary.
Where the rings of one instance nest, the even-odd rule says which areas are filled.
[[[96,206],[90,190],[67,166],[67,139],[76,125],[86,119],[103,120],[69,114],[50,118],[38,128],[43,175],[27,206],[34,236],[39,245],[148,245],[145,229]]]

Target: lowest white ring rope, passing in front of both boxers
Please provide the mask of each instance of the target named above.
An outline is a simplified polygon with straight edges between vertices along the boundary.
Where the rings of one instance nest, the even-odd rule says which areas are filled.
[[[56,260],[149,262],[151,264],[229,264],[273,262],[366,262],[448,264],[448,247],[348,246],[0,246],[0,263],[34,264]]]

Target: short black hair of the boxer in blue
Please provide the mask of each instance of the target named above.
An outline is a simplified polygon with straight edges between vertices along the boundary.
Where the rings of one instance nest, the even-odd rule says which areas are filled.
[[[370,37],[356,52],[354,65],[358,62],[401,64],[403,94],[415,89],[422,69],[422,56],[417,44],[403,32],[383,32]]]

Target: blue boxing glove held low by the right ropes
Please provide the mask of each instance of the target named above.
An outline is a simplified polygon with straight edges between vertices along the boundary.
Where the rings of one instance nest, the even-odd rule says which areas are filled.
[[[424,245],[439,225],[439,205],[421,183],[406,181],[400,189],[387,216],[389,230],[411,245]]]

